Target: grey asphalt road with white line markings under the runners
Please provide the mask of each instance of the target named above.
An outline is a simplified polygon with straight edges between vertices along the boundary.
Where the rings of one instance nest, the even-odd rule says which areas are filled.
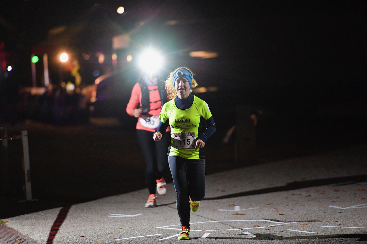
[[[210,174],[186,242],[367,243],[366,163],[363,145]],[[142,189],[3,220],[38,243],[176,243],[172,183],[145,201]]]

